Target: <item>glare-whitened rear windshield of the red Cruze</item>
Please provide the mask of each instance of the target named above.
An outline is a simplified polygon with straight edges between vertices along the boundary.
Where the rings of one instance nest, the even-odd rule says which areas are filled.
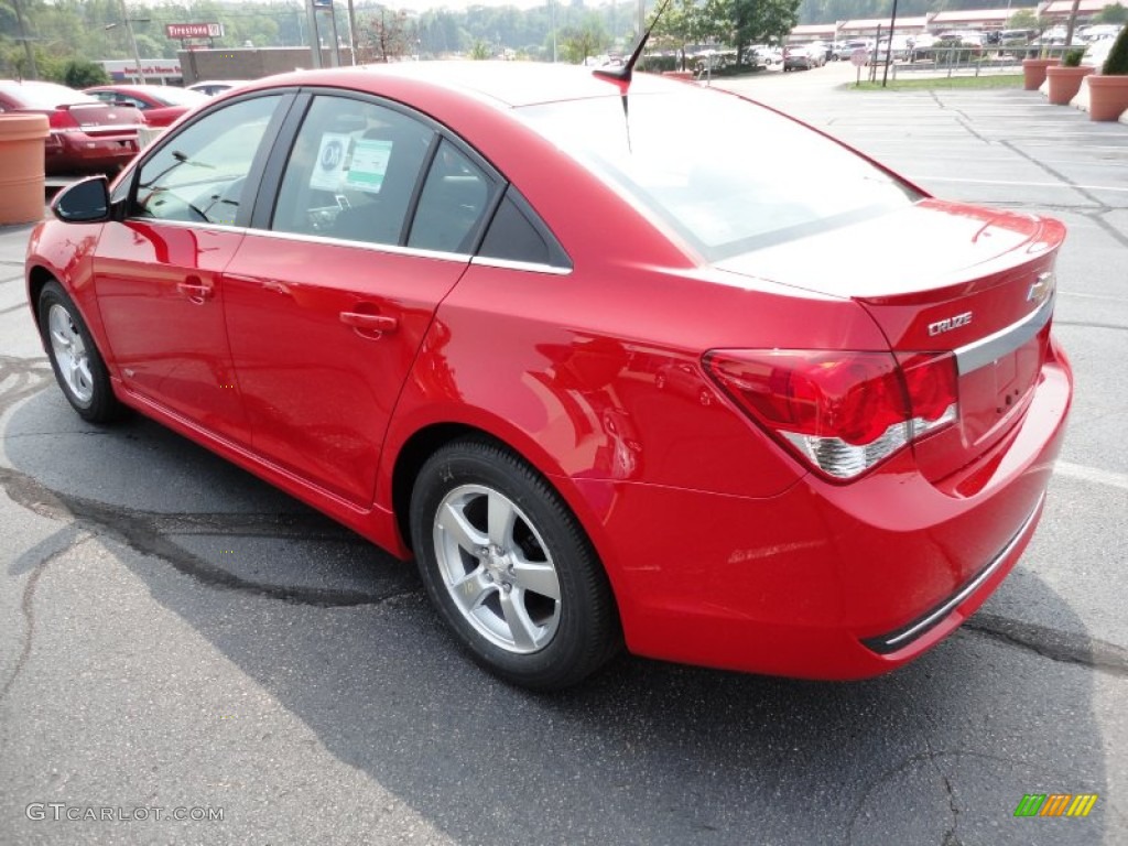
[[[716,91],[549,103],[518,116],[711,262],[919,199],[840,144]]]

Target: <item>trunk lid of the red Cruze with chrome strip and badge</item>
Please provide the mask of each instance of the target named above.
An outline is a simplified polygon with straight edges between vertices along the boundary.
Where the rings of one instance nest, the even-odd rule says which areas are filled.
[[[1029,404],[1047,355],[1064,237],[1057,221],[924,200],[717,266],[853,299],[895,352],[953,353],[955,424],[914,443],[935,482],[989,451]]]

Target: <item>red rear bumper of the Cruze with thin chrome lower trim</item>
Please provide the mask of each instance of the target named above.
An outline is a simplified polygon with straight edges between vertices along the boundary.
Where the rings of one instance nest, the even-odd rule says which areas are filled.
[[[765,500],[616,485],[605,537],[626,539],[600,552],[628,649],[820,679],[907,663],[973,614],[1022,555],[1070,396],[1068,364],[1048,363],[1022,422],[981,459],[986,484],[967,497],[920,476],[909,452],[852,485],[808,476]]]

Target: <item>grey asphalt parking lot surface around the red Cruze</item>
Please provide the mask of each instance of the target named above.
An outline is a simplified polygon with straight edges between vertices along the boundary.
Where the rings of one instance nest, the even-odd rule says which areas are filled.
[[[1128,126],[848,79],[723,85],[935,194],[1069,227],[1069,437],[963,629],[866,682],[623,659],[513,690],[409,566],[156,424],[82,423],[24,303],[30,228],[0,229],[0,843],[1128,843]],[[1025,794],[1098,800],[1015,818]]]

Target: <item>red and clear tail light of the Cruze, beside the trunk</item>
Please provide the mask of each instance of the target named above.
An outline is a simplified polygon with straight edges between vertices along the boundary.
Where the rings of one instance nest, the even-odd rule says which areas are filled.
[[[814,469],[852,479],[958,413],[951,353],[714,350],[705,371]]]

